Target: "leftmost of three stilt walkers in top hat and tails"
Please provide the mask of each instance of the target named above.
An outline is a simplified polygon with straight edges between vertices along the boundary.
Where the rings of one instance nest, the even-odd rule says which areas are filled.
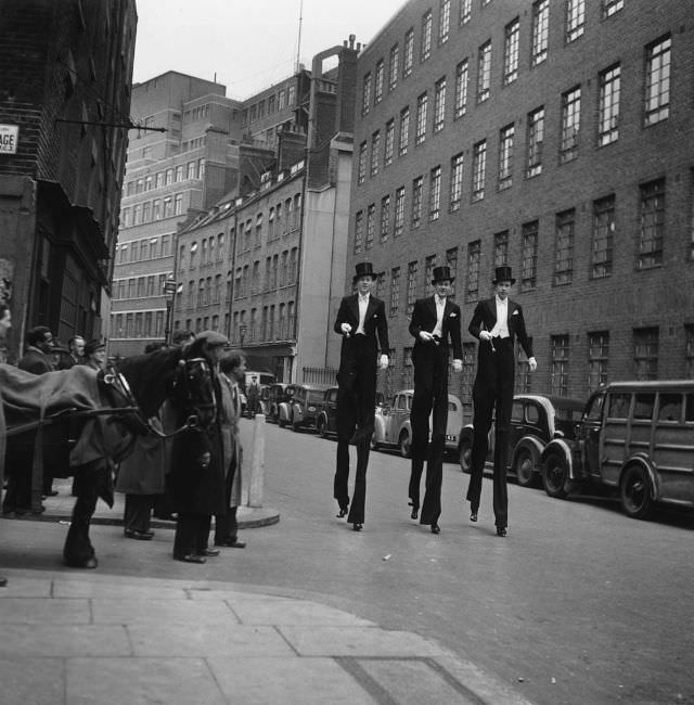
[[[357,264],[352,279],[357,293],[342,299],[334,326],[343,342],[337,372],[337,459],[333,496],[339,505],[338,517],[345,516],[349,507],[347,522],[355,531],[360,531],[364,523],[367,467],[376,403],[376,362],[382,370],[388,367],[388,321],[384,303],[371,295],[375,279],[371,262]],[[357,471],[350,504],[347,484],[352,436],[357,446]]]

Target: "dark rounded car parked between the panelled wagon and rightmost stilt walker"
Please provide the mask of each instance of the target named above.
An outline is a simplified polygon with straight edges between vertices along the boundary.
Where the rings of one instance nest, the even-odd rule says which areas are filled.
[[[573,439],[576,422],[580,419],[583,402],[569,397],[542,394],[516,394],[511,410],[511,431],[506,458],[509,470],[518,485],[529,487],[540,476],[540,457],[553,438]],[[459,459],[461,470],[468,473],[473,447],[473,424],[460,432]],[[494,452],[494,427],[489,432],[487,463],[491,466]]]

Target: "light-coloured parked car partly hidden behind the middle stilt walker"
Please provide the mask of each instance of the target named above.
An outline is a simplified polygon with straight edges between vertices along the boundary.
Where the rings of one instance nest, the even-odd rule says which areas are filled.
[[[382,446],[397,446],[403,458],[410,458],[412,445],[412,424],[410,411],[414,389],[402,389],[394,395],[390,403],[376,406],[374,419],[374,433],[371,447],[376,450]],[[458,435],[463,422],[463,405],[461,400],[448,395],[448,424],[446,427],[446,450],[455,452],[458,449]],[[430,425],[430,421],[429,421]]]

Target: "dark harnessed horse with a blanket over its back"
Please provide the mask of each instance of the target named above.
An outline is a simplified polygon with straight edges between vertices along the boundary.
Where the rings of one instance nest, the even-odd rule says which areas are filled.
[[[213,370],[205,357],[203,341],[126,358],[99,373],[79,367],[79,370],[73,368],[64,372],[49,372],[40,377],[29,375],[33,380],[22,377],[20,386],[26,383],[31,388],[36,387],[39,396],[41,387],[48,386],[53,392],[63,382],[74,383],[74,376],[81,379],[87,375],[87,386],[90,387],[86,392],[83,384],[74,385],[77,389],[73,394],[62,395],[73,406],[55,413],[44,414],[46,408],[39,405],[38,422],[25,424],[33,425],[33,428],[24,430],[20,423],[13,431],[16,409],[12,399],[8,400],[7,390],[3,390],[4,410],[8,412],[10,409],[7,449],[10,486],[3,513],[26,510],[26,488],[30,485],[34,507],[36,509],[38,503],[40,508],[40,466],[41,460],[48,456],[53,465],[62,464],[63,469],[68,469],[68,475],[75,476],[77,498],[63,549],[65,563],[72,567],[94,568],[98,561],[89,539],[89,527],[99,497],[113,507],[114,462],[132,450],[138,435],[166,435],[150,423],[165,401],[182,420],[180,427],[175,428],[171,435],[191,427],[205,428],[214,423],[217,403]],[[21,372],[14,371],[14,374]],[[61,380],[55,375],[64,376]],[[44,396],[49,397],[48,405],[56,397],[51,393]],[[85,397],[89,403],[85,402]],[[12,502],[22,495],[25,498],[24,508],[14,507]]]

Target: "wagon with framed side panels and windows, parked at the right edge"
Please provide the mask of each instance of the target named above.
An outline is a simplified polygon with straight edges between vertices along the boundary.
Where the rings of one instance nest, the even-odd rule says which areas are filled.
[[[694,380],[613,382],[589,398],[574,439],[541,457],[550,497],[586,484],[618,491],[632,518],[657,502],[694,507]]]

